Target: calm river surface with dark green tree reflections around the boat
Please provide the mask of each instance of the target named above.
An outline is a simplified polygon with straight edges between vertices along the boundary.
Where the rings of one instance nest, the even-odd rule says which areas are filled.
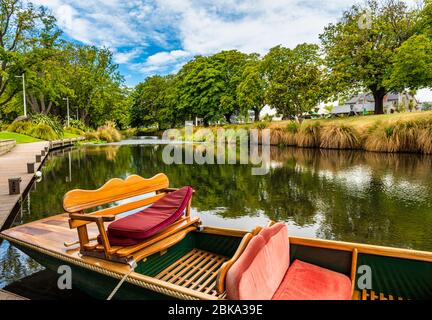
[[[63,195],[108,179],[164,172],[172,186],[196,190],[193,214],[204,224],[251,229],[284,221],[291,235],[432,250],[432,157],[272,148],[269,173],[252,165],[171,164],[162,145],[83,146],[50,155],[14,224],[62,212]],[[0,287],[40,272],[0,244]]]

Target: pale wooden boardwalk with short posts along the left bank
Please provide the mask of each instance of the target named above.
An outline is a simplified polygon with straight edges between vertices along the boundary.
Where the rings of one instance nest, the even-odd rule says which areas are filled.
[[[47,141],[18,144],[12,151],[0,156],[0,230],[34,177],[33,173],[27,173],[27,163],[35,162],[36,154],[40,155],[48,146]],[[39,170],[43,160],[44,157],[35,164],[35,171]],[[22,179],[19,195],[9,195],[8,179],[12,177]]]

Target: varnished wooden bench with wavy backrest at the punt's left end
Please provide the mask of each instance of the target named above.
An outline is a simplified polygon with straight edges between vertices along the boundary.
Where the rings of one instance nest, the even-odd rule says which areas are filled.
[[[109,180],[97,190],[77,189],[69,191],[64,196],[63,208],[69,214],[69,227],[71,229],[77,229],[77,243],[80,245],[81,254],[121,263],[131,263],[131,261],[138,262],[154,253],[163,252],[170,246],[184,239],[189,232],[199,228],[201,224],[200,219],[192,218],[190,216],[192,189],[190,187],[185,187],[183,193],[190,192],[190,194],[188,197],[185,197],[185,203],[181,203],[181,206],[178,208],[178,213],[176,211],[176,214],[179,215],[179,217],[171,217],[167,214],[168,220],[173,220],[172,218],[174,218],[174,221],[167,220],[167,223],[163,221],[165,225],[162,230],[150,230],[153,231],[154,234],[146,232],[146,234],[140,235],[145,238],[117,238],[117,235],[110,235],[110,230],[107,232],[107,223],[116,221],[117,225],[120,226],[121,223],[118,223],[120,220],[125,221],[128,219],[131,220],[129,221],[129,224],[134,224],[134,219],[136,220],[137,218],[136,216],[132,218],[129,218],[130,216],[128,216],[118,220],[116,220],[116,216],[132,210],[141,209],[151,204],[156,206],[156,203],[163,202],[168,197],[173,197],[175,193],[181,191],[183,190],[169,188],[169,180],[165,174],[158,174],[150,179],[144,179],[140,176],[132,175],[125,180]],[[155,192],[155,194],[151,195],[153,192]],[[143,195],[147,196],[143,198]],[[177,195],[177,198],[179,198],[179,195]],[[130,199],[131,201],[118,204],[119,201],[125,199]],[[167,206],[172,206],[172,203],[173,200],[171,199],[171,201],[168,200],[165,201],[165,203],[161,203],[160,207],[166,208]],[[90,209],[94,210],[100,206],[110,204],[114,204],[114,206],[86,212]],[[153,208],[153,206],[150,208]],[[184,215],[183,212],[185,212]],[[145,222],[147,219],[145,213],[145,211],[142,211],[134,213],[133,215],[142,214],[140,218]],[[152,218],[150,216],[148,217]],[[157,218],[157,210],[153,210],[153,220],[157,220]],[[87,225],[90,223],[95,223],[97,225],[99,232],[97,238],[89,238]],[[124,223],[123,225],[126,226]],[[163,224],[161,224],[161,226],[163,226]],[[117,229],[119,230],[112,228],[111,232],[122,231],[121,228]],[[149,236],[147,236],[147,234]],[[122,240],[127,240],[125,245],[115,244],[119,241],[121,244]],[[130,242],[131,240],[132,242]],[[65,245],[69,246],[70,244],[65,243]]]

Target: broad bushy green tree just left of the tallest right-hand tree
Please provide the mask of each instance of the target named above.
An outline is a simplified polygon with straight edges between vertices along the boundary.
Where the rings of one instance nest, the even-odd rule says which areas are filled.
[[[325,97],[318,49],[313,44],[277,46],[264,57],[268,103],[285,119],[312,110]]]

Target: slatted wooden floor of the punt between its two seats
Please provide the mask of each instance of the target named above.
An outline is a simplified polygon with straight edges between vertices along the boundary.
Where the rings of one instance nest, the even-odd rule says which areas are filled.
[[[216,277],[228,259],[212,252],[193,249],[160,272],[156,279],[223,298],[216,292]]]

